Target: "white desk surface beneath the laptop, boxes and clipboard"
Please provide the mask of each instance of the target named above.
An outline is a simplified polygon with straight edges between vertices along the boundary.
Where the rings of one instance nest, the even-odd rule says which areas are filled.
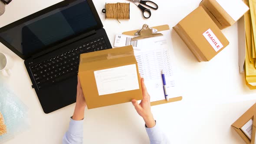
[[[0,16],[0,27],[28,16],[61,0],[13,0]],[[105,3],[125,0],[93,0],[110,42],[115,34],[149,26],[176,25],[198,7],[201,0],[153,0],[158,10],[151,10],[150,19],[131,3],[131,19],[105,20],[101,10]],[[210,62],[197,62],[187,46],[172,30],[172,42],[177,64],[177,80],[182,101],[152,107],[154,118],[162,126],[172,144],[244,144],[230,127],[255,103],[256,91],[249,90],[238,66],[237,23],[223,30],[230,45]],[[29,108],[30,128],[6,144],[60,144],[69,126],[75,104],[50,114],[44,114],[39,104],[23,60],[0,43],[0,52],[13,56],[13,75],[6,78],[13,91]],[[131,103],[85,111],[85,144],[148,144],[144,121]]]

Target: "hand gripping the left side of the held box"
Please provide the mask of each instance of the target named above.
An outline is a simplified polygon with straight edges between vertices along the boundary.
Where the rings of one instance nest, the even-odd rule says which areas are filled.
[[[72,116],[72,119],[75,121],[82,120],[85,114],[85,107],[86,107],[85,97],[82,91],[79,77],[77,76],[76,104],[75,104],[75,111]]]

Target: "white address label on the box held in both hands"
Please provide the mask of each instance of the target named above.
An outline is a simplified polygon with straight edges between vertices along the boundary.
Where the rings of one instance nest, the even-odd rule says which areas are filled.
[[[136,65],[125,65],[94,71],[98,95],[139,89]]]

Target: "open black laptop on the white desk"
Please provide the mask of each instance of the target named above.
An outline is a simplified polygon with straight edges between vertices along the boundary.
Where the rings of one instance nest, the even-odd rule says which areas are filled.
[[[64,0],[4,26],[0,42],[25,60],[46,114],[75,102],[80,54],[112,48],[92,0]]]

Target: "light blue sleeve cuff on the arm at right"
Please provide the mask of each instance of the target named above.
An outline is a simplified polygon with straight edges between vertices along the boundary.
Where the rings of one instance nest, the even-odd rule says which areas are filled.
[[[147,128],[146,125],[145,128],[148,133],[150,144],[170,144],[167,136],[163,133],[163,131],[161,131],[157,122],[153,128]]]

